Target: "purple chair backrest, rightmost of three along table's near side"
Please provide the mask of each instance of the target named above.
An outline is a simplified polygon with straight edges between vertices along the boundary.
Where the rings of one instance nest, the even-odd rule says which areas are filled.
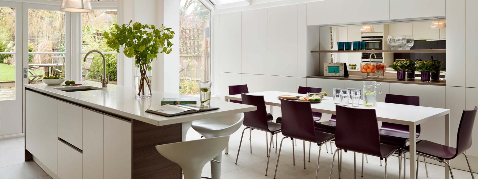
[[[375,109],[336,105],[336,116],[335,144],[338,148],[381,156],[379,126]]]

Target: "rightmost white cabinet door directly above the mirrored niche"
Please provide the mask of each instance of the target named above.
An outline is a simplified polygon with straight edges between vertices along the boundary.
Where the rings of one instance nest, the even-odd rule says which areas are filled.
[[[445,16],[445,0],[390,0],[390,19],[439,16]]]

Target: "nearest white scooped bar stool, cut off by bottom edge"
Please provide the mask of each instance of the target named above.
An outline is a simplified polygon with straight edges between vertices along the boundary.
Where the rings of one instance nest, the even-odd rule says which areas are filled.
[[[156,150],[183,169],[184,179],[200,179],[204,165],[221,154],[229,136],[156,145]]]

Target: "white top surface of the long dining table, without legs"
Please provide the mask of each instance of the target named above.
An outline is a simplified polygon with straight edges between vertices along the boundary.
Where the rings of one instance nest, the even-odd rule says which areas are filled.
[[[281,101],[277,99],[281,95],[305,96],[304,94],[281,92],[281,91],[261,91],[248,93],[250,95],[264,96],[266,105],[281,106]],[[331,94],[329,94],[330,96]],[[225,96],[228,100],[241,101],[241,95]],[[323,112],[328,114],[335,114],[335,105],[333,97],[324,97],[322,102],[311,104],[313,112]],[[348,107],[352,107],[351,104]],[[360,105],[359,108],[370,109]],[[449,114],[449,109],[431,108],[424,106],[412,106],[403,104],[393,104],[386,102],[377,102],[377,107],[374,108],[377,113],[377,119],[382,122],[398,123],[405,125],[418,125],[424,123],[429,119],[444,116]]]

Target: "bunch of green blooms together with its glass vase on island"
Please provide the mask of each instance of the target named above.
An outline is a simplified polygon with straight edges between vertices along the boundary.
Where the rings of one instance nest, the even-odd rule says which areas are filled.
[[[157,28],[151,24],[141,24],[131,21],[128,24],[114,26],[110,32],[103,34],[106,44],[126,57],[134,57],[134,65],[137,67],[136,98],[151,97],[151,62],[157,59],[158,53],[169,54],[173,44],[170,39],[174,37],[174,31],[164,25]]]

